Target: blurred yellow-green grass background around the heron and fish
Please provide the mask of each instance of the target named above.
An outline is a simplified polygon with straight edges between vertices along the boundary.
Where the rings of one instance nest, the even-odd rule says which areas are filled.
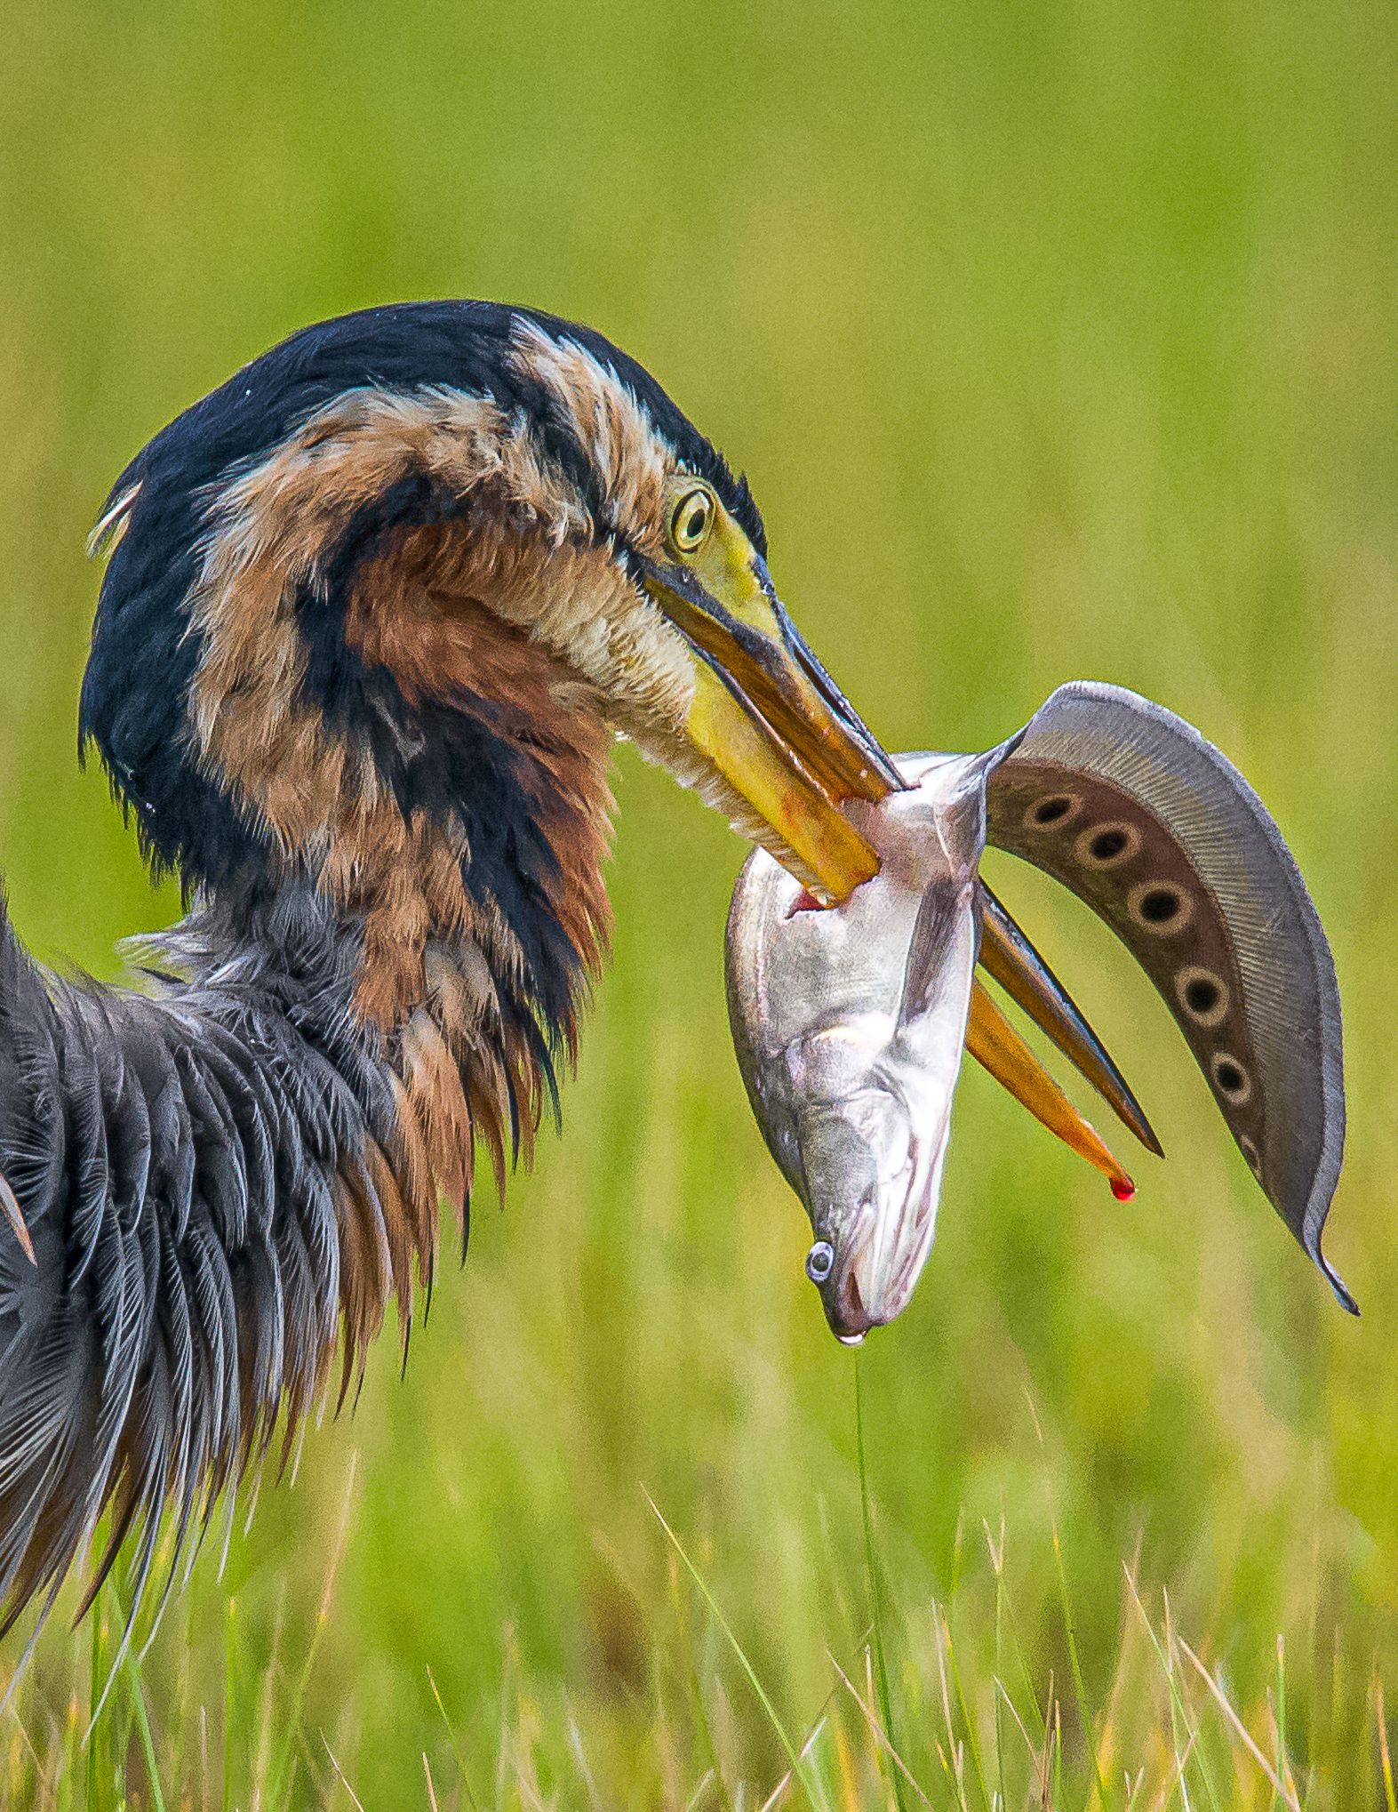
[[[819,1727],[786,1803],[886,1805],[898,1774],[936,1807],[1394,1812],[1393,9],[56,0],[4,27],[0,852],[40,953],[110,973],[174,911],[72,761],[81,544],[123,460],[302,321],[531,301],[746,466],[889,747],[983,747],[1087,674],[1242,765],[1336,948],[1331,1250],[1365,1308],[1327,1301],[1110,939],[1003,873],[1170,1161],[1119,1209],[967,1076],[934,1259],[862,1361],[904,1778],[851,1361],[728,1056],[741,852],[623,752],[563,1140],[223,1578],[210,1540],[89,1749],[118,1607],[54,1620],[4,1801],[158,1805],[143,1703],[168,1807],[761,1807],[790,1758],[645,1488],[780,1727]]]

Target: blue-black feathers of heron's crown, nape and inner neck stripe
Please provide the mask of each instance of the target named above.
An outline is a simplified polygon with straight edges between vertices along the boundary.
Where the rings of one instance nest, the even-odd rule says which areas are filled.
[[[518,321],[567,335],[610,366],[637,397],[688,469],[708,478],[766,556],[766,531],[744,478],[704,440],[661,386],[599,333],[538,310],[498,303],[398,303],[319,321],[243,366],[177,415],[127,466],[103,513],[139,486],[127,533],[116,547],[92,625],[83,678],[80,737],[96,745],[112,786],[136,819],[143,848],[187,888],[225,882],[254,852],[246,826],[217,785],[192,770],[179,747],[181,707],[199,641],[185,609],[194,583],[210,502],[221,482],[277,446],[301,422],[357,390],[420,391],[427,386],[489,395],[529,422],[545,455],[587,498],[598,529],[607,516],[589,453],[536,379],[507,362]],[[395,529],[460,516],[451,487],[407,471],[340,525],[328,549],[324,585],[299,607],[311,638],[308,687],[333,712],[355,708],[362,672],[335,632],[335,614],[355,567]],[[132,649],[143,651],[139,663]],[[391,689],[391,678],[386,678]],[[444,779],[444,785],[449,785]]]

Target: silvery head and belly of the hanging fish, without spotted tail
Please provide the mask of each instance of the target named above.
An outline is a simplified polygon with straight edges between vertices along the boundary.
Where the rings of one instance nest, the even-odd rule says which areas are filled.
[[[840,1339],[893,1321],[931,1250],[980,948],[992,756],[920,757],[864,810],[882,868],[842,904],[764,850],[728,913],[728,1013],[768,1149],[811,1219]],[[826,1268],[828,1265],[828,1268]],[[826,1274],[822,1276],[822,1268]]]

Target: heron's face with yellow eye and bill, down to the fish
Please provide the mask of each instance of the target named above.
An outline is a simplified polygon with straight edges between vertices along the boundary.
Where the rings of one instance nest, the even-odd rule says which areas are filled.
[[[876,859],[844,812],[900,785],[782,607],[744,478],[634,361],[520,315],[507,359],[543,408],[525,502],[570,564],[496,607],[596,689],[607,721],[826,899]],[[552,495],[534,471],[560,473]]]

